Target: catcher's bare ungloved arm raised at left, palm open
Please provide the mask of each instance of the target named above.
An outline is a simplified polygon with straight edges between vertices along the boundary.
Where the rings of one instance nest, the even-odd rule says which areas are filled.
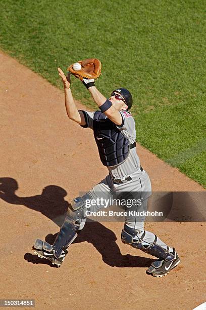
[[[80,124],[80,125],[85,125],[85,119],[82,111],[78,111],[76,104],[74,102],[72,92],[70,89],[71,86],[71,80],[70,80],[70,73],[66,76],[64,72],[58,68],[59,75],[62,78],[62,82],[64,85],[64,91],[65,91],[65,107],[67,111],[67,115],[70,120]]]

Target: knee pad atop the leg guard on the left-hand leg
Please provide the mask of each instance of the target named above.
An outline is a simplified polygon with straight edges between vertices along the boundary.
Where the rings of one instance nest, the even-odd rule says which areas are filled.
[[[76,197],[69,206],[67,215],[71,219],[71,222],[75,225],[76,230],[81,230],[86,222],[85,212],[87,210],[85,206],[86,200],[91,200],[92,197],[89,193],[86,193],[82,197]]]

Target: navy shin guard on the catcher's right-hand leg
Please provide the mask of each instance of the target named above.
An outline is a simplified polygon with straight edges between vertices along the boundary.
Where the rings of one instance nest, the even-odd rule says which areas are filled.
[[[155,236],[155,240],[153,242],[147,245],[143,241],[145,231],[143,232],[141,238],[137,236],[138,232],[138,230],[125,225],[122,230],[122,242],[162,260],[172,261],[174,259],[175,256],[173,253],[169,252],[169,247],[165,250],[163,247],[156,244],[157,236]]]

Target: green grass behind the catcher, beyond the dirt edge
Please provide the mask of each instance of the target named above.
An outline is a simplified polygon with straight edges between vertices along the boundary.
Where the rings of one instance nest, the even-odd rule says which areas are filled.
[[[137,141],[206,188],[205,8],[202,0],[0,0],[0,47],[60,88],[58,66],[99,58],[99,90],[133,94]]]

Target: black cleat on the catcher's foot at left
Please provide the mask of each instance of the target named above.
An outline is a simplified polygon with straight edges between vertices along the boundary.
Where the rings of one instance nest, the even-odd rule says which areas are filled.
[[[62,254],[59,258],[55,256],[55,250],[53,249],[53,246],[49,243],[42,241],[40,239],[37,239],[33,245],[33,251],[38,257],[40,258],[46,258],[50,261],[52,261],[52,264],[56,264],[59,267],[62,265],[65,256],[67,255],[68,251],[65,249],[62,251]]]

